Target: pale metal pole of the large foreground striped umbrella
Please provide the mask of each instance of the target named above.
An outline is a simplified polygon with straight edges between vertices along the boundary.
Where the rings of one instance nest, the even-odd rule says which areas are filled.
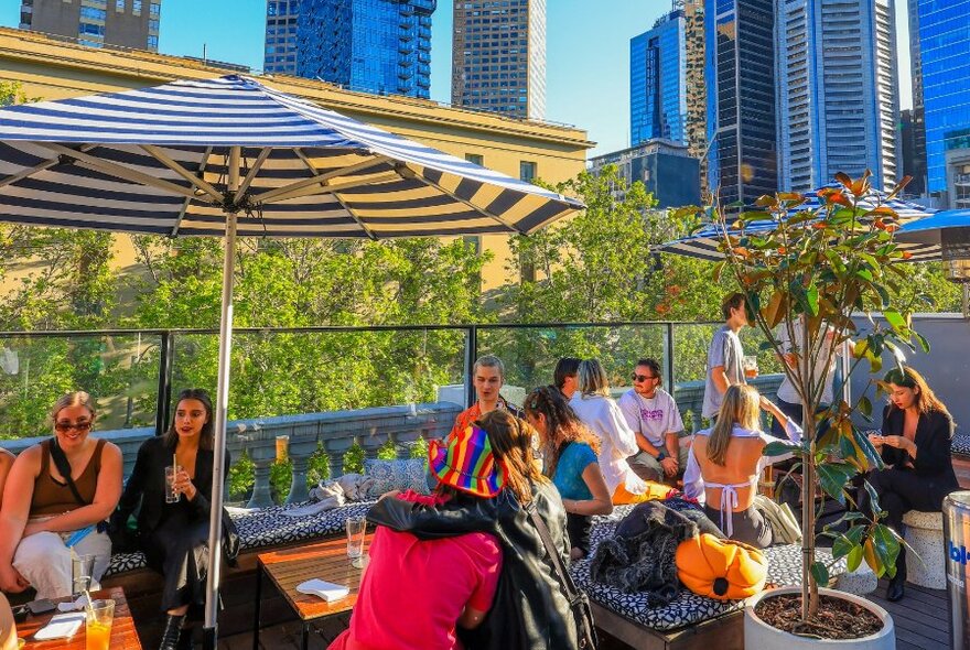
[[[229,191],[239,187],[239,148],[229,151]],[[204,650],[218,641],[219,573],[223,544],[223,491],[226,464],[226,415],[229,403],[229,358],[233,351],[233,274],[236,267],[236,214],[226,215],[226,252],[223,259],[223,313],[219,318],[219,377],[213,432],[213,491],[209,497],[208,574],[205,582]]]

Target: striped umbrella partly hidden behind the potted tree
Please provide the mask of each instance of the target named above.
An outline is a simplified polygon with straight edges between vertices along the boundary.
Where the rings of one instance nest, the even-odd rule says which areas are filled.
[[[794,216],[795,214],[807,209],[821,208],[824,204],[815,192],[806,194],[805,197],[807,201],[798,206],[798,208],[791,210],[789,216]],[[904,225],[927,217],[936,212],[931,208],[925,208],[922,205],[908,201],[886,198],[884,193],[876,189],[873,189],[869,196],[862,198],[859,203],[859,207],[865,210],[873,209],[880,205],[893,208],[899,217],[899,223]],[[776,227],[777,223],[773,219],[751,221],[745,225],[744,232],[747,235],[758,235],[770,232]],[[739,230],[730,229],[729,234],[741,235]],[[659,252],[672,252],[676,254],[700,258],[702,260],[719,261],[724,259],[724,253],[718,250],[722,236],[723,234],[721,232],[720,227],[716,224],[711,224],[704,226],[690,237],[661,243],[656,247],[655,250]],[[940,258],[940,248],[938,243],[926,241],[899,241],[898,239],[896,243],[901,250],[913,253],[913,257],[909,258],[908,261],[918,262],[938,260]]]

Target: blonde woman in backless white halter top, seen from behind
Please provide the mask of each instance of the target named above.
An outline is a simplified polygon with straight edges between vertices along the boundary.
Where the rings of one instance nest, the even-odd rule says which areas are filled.
[[[707,516],[730,539],[763,549],[772,543],[772,528],[754,508],[754,497],[758,476],[768,463],[762,452],[778,440],[761,430],[759,408],[778,419],[793,442],[801,440],[801,429],[757,390],[731,386],[716,424],[694,435],[683,491],[704,503]]]

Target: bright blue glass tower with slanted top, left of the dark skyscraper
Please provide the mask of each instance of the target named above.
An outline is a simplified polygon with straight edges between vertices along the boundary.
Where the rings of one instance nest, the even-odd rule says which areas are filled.
[[[629,143],[687,143],[687,21],[682,9],[629,41]]]

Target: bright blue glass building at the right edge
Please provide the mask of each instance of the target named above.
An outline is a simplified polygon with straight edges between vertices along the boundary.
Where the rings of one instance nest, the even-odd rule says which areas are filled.
[[[970,158],[970,0],[918,0],[917,12],[927,191],[952,207]]]

